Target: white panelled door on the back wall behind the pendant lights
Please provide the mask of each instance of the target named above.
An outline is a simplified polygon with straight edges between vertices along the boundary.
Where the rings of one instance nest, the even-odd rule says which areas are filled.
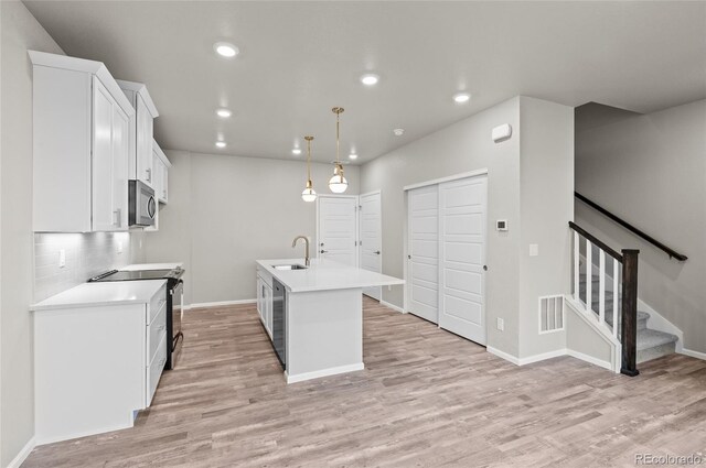
[[[357,266],[357,197],[319,196],[319,258]]]

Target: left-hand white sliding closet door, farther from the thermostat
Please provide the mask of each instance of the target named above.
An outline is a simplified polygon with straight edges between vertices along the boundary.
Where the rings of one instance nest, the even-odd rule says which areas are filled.
[[[408,192],[408,311],[438,323],[439,311],[439,194],[438,185]]]

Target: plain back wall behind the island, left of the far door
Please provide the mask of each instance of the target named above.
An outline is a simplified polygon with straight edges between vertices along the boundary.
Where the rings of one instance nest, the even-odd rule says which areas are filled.
[[[160,230],[145,233],[145,255],[184,262],[186,304],[255,298],[255,260],[303,257],[291,241],[313,240],[315,204],[301,199],[301,160],[165,153],[173,164],[170,200],[160,209]],[[345,167],[346,194],[359,194],[359,173]],[[332,175],[332,165],[313,164],[314,189],[330,193]]]

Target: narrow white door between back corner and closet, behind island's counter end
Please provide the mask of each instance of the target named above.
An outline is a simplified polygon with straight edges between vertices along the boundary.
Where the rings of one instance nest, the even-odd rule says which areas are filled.
[[[379,192],[361,195],[360,198],[359,226],[361,228],[361,268],[383,272],[382,253],[382,209]],[[363,294],[377,301],[382,297],[379,286],[364,287]]]

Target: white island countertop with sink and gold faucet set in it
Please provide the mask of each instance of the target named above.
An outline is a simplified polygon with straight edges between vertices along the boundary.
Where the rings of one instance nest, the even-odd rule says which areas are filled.
[[[405,281],[398,277],[330,260],[311,259],[311,265],[306,270],[275,270],[272,268],[278,264],[303,265],[304,259],[256,260],[256,262],[292,293],[405,284]]]

